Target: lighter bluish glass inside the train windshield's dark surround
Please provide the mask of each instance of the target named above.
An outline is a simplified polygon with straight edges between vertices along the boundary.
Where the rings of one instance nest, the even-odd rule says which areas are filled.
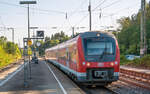
[[[112,42],[87,42],[87,55],[113,54]]]

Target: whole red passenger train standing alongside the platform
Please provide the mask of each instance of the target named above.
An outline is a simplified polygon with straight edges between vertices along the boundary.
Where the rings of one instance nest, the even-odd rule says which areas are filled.
[[[120,52],[109,32],[89,31],[45,50],[46,60],[83,85],[105,86],[119,79]]]

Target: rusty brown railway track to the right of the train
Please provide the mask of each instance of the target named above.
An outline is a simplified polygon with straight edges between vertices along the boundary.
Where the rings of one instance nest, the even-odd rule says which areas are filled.
[[[119,80],[150,90],[150,74],[125,68],[120,68]]]

